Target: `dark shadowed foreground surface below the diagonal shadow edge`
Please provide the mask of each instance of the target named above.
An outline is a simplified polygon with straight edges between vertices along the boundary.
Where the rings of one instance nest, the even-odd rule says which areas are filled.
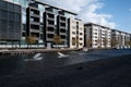
[[[131,87],[131,55],[9,74],[0,87]]]

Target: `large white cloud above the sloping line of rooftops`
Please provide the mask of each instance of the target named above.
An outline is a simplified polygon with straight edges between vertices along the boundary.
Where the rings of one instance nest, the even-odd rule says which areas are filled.
[[[93,22],[96,24],[116,27],[116,23],[110,22],[111,14],[100,14],[97,10],[104,8],[102,0],[41,0],[46,3],[78,13],[78,17],[84,22]]]

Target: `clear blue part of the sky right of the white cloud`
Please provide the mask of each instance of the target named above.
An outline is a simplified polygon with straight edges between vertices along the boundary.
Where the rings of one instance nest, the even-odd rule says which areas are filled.
[[[103,0],[103,3],[98,12],[111,14],[117,29],[131,33],[131,0]]]

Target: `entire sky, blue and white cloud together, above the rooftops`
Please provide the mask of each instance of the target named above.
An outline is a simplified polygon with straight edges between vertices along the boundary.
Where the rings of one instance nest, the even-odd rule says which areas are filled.
[[[131,33],[131,0],[40,0],[78,13],[78,18]]]

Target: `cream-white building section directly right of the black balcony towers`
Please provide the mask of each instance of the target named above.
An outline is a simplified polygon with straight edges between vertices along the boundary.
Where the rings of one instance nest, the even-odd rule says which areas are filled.
[[[69,47],[83,48],[84,47],[84,23],[78,18],[69,18]]]

